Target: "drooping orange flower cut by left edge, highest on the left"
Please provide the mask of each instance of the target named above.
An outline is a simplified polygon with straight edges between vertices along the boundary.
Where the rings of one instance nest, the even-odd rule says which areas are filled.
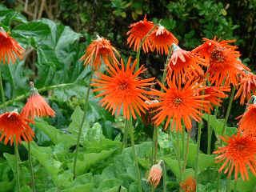
[[[2,30],[0,28],[0,62],[3,64],[10,64],[10,60],[12,63],[16,61],[16,57],[22,59],[22,54],[25,50],[22,46],[18,45],[18,42],[10,37],[10,32]],[[16,54],[16,55],[15,55]]]

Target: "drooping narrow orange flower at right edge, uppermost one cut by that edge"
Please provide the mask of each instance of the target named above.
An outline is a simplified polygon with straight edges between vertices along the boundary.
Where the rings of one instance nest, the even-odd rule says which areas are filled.
[[[240,97],[240,103],[243,105],[245,103],[245,100],[247,102],[250,101],[250,97],[252,93],[256,91],[256,75],[252,73],[246,74],[241,82],[239,83],[239,89],[237,94],[234,96],[234,99],[237,99]]]

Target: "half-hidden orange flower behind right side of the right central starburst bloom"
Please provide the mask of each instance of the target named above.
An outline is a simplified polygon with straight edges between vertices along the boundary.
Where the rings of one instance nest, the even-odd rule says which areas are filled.
[[[204,94],[208,96],[204,98],[204,100],[210,102],[210,109],[213,110],[213,106],[222,106],[220,102],[222,102],[221,98],[227,98],[227,94],[224,92],[229,92],[230,86],[206,86],[204,90]],[[199,94],[202,94],[203,90],[200,91]],[[210,112],[210,111],[208,111]]]

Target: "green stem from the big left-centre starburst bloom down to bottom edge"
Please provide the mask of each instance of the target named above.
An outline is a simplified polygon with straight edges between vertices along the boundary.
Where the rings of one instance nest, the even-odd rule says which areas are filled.
[[[134,154],[135,172],[136,172],[137,180],[138,180],[138,191],[142,192],[141,173],[140,173],[139,168],[138,168],[138,158],[137,158],[135,144],[134,144],[134,126],[132,125],[132,118],[131,117],[130,117],[130,121],[129,121],[129,131],[130,131],[131,147],[132,147],[133,154]]]

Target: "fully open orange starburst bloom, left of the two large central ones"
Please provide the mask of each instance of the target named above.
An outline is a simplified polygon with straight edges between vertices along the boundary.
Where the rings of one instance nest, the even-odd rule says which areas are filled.
[[[151,81],[154,78],[141,79],[138,77],[142,74],[142,66],[138,71],[134,73],[134,67],[137,64],[137,60],[130,66],[131,58],[128,59],[126,69],[122,62],[122,68],[120,69],[117,63],[113,66],[109,66],[110,70],[107,70],[110,76],[106,74],[100,74],[96,72],[99,79],[93,79],[94,84],[92,86],[99,86],[101,88],[94,91],[103,91],[98,94],[96,98],[104,96],[101,100],[102,106],[106,106],[106,109],[112,110],[112,114],[117,111],[117,116],[122,108],[124,118],[130,119],[130,113],[134,118],[136,111],[140,115],[140,110],[145,113],[144,109],[148,109],[146,100],[148,100],[143,94],[149,94],[150,92],[145,90],[146,86],[150,86],[153,83]]]

